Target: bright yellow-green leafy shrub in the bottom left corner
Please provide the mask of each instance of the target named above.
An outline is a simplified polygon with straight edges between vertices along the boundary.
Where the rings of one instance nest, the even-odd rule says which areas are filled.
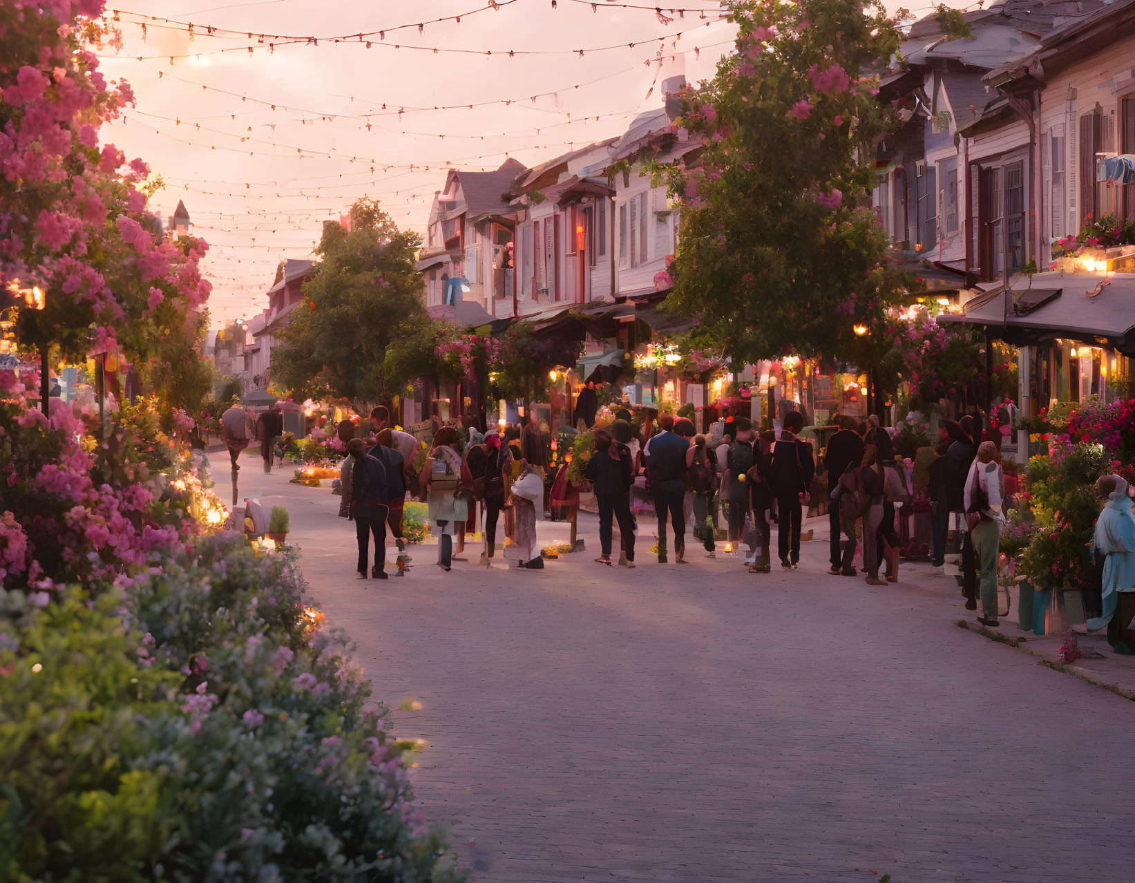
[[[183,679],[138,665],[118,603],[72,589],[36,611],[0,591],[3,880],[77,880],[75,868],[152,878],[144,868],[174,834],[169,777],[132,762],[178,726]]]

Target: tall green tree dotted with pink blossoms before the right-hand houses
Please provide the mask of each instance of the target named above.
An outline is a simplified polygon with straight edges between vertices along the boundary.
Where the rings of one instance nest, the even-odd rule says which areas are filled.
[[[690,165],[648,166],[681,207],[667,304],[734,361],[855,354],[871,367],[888,348],[872,328],[905,278],[865,162],[894,120],[860,72],[883,69],[899,34],[858,0],[728,6],[737,52],[684,93],[674,126],[705,148]]]

